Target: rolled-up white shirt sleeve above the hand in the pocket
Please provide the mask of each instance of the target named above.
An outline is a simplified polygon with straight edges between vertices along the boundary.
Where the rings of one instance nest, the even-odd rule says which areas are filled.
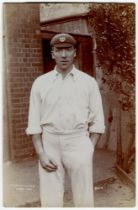
[[[105,124],[102,98],[95,79],[91,81],[90,85],[89,110],[89,132],[104,133]]]

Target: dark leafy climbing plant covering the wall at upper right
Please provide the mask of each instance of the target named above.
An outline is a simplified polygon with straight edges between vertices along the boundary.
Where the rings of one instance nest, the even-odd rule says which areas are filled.
[[[135,101],[135,4],[90,4],[89,24],[95,32],[96,55],[103,82],[119,94],[123,110]]]

